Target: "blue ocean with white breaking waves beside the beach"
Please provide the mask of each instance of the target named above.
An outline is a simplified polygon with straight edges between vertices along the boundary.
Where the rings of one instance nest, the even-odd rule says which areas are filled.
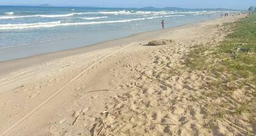
[[[0,6],[0,61],[219,18],[216,10]]]

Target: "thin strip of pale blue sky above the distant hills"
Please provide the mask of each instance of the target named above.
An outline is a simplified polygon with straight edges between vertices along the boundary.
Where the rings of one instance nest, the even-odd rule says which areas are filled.
[[[0,5],[55,6],[87,5],[96,7],[182,7],[182,8],[226,8],[247,10],[256,6],[256,0],[0,0]]]

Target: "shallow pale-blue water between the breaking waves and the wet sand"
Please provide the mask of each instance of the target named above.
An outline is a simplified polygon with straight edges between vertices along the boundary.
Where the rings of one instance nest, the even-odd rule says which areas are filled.
[[[185,14],[185,13],[184,13]],[[176,16],[176,15],[174,15]],[[174,17],[174,16],[157,16],[157,18],[164,18],[166,21],[170,22],[169,24],[166,24],[167,28],[176,27],[178,25],[186,24],[186,23],[194,23],[194,22],[200,22],[204,20],[208,20],[208,16],[205,15],[182,15],[180,17]],[[122,17],[123,18],[123,17]],[[137,17],[136,17],[137,18]],[[0,49],[1,52],[1,59],[0,61],[9,61],[9,60],[15,60],[18,58],[26,58],[29,56],[35,56],[35,55],[41,55],[45,53],[52,53],[52,52],[59,52],[62,50],[68,50],[68,49],[76,49],[79,47],[88,46],[91,44],[97,44],[99,42],[104,41],[110,41],[112,39],[117,38],[125,38],[127,36],[130,36],[132,34],[136,33],[143,33],[143,32],[149,32],[154,30],[159,30],[161,27],[158,23],[160,21],[159,19],[152,18],[143,18],[143,21],[146,21],[145,24],[143,21],[137,22],[137,19],[127,19],[124,20],[126,23],[129,24],[128,27],[123,27],[122,29],[121,25],[126,25],[124,23],[118,23],[115,22],[115,18],[113,18],[113,23],[111,22],[111,25],[108,28],[108,25],[105,27],[105,25],[88,25],[84,27],[83,25],[74,25],[74,26],[67,26],[67,27],[61,27],[60,30],[63,30],[62,32],[55,31],[54,29],[59,29],[59,27],[53,27],[49,28],[49,34],[52,36],[44,36],[40,34],[44,30],[40,31],[41,29],[24,29],[24,32],[30,32],[28,35],[36,36],[37,38],[22,38],[20,39],[18,36],[19,34],[23,35],[23,29],[18,30],[17,34],[13,33],[16,30],[11,30],[10,32],[6,31],[6,37],[4,36],[3,43],[1,44],[1,47],[3,49]],[[214,14],[211,19],[219,18],[219,15]],[[150,21],[147,21],[147,20]],[[112,19],[110,19],[112,20]],[[118,19],[117,19],[118,21]],[[128,21],[128,22],[127,22]],[[101,21],[96,21],[101,22]],[[102,23],[105,24],[105,21],[102,20]],[[138,24],[136,24],[138,23]],[[61,24],[61,23],[60,23]],[[107,23],[108,24],[108,23]],[[127,25],[128,25],[127,24]],[[116,25],[115,29],[111,29],[112,25]],[[119,27],[120,25],[120,27]],[[81,28],[80,28],[81,27]],[[95,28],[94,28],[95,27]],[[82,30],[76,30],[77,28],[80,28]],[[2,28],[2,29],[8,29],[8,28]],[[72,33],[69,34],[69,32],[65,32],[65,30],[70,29]],[[88,30],[87,30],[88,29]],[[46,33],[48,33],[48,29],[45,30]],[[5,30],[3,31],[5,32]],[[20,33],[21,32],[21,33]],[[13,38],[17,39],[16,41],[13,41],[12,39],[9,39],[7,36],[13,35]]]

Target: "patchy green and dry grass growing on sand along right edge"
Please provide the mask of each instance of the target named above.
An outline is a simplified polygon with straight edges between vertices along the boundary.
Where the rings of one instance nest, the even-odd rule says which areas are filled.
[[[211,110],[207,111],[209,122],[223,118],[239,120],[246,115],[253,126],[256,122],[256,15],[222,26],[231,31],[224,41],[218,45],[196,46],[186,64],[189,69],[207,73],[214,79],[205,81],[202,87],[205,91],[199,97],[211,100]],[[246,127],[244,130],[243,134],[252,135]]]

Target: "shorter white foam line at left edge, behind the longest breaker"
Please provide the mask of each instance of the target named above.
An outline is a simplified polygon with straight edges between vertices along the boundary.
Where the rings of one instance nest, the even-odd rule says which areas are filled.
[[[82,15],[85,13],[69,13],[63,15],[27,15],[27,16],[0,16],[0,19],[15,19],[15,18],[31,18],[31,17],[41,17],[41,18],[60,18],[60,17],[68,17],[74,15]]]

